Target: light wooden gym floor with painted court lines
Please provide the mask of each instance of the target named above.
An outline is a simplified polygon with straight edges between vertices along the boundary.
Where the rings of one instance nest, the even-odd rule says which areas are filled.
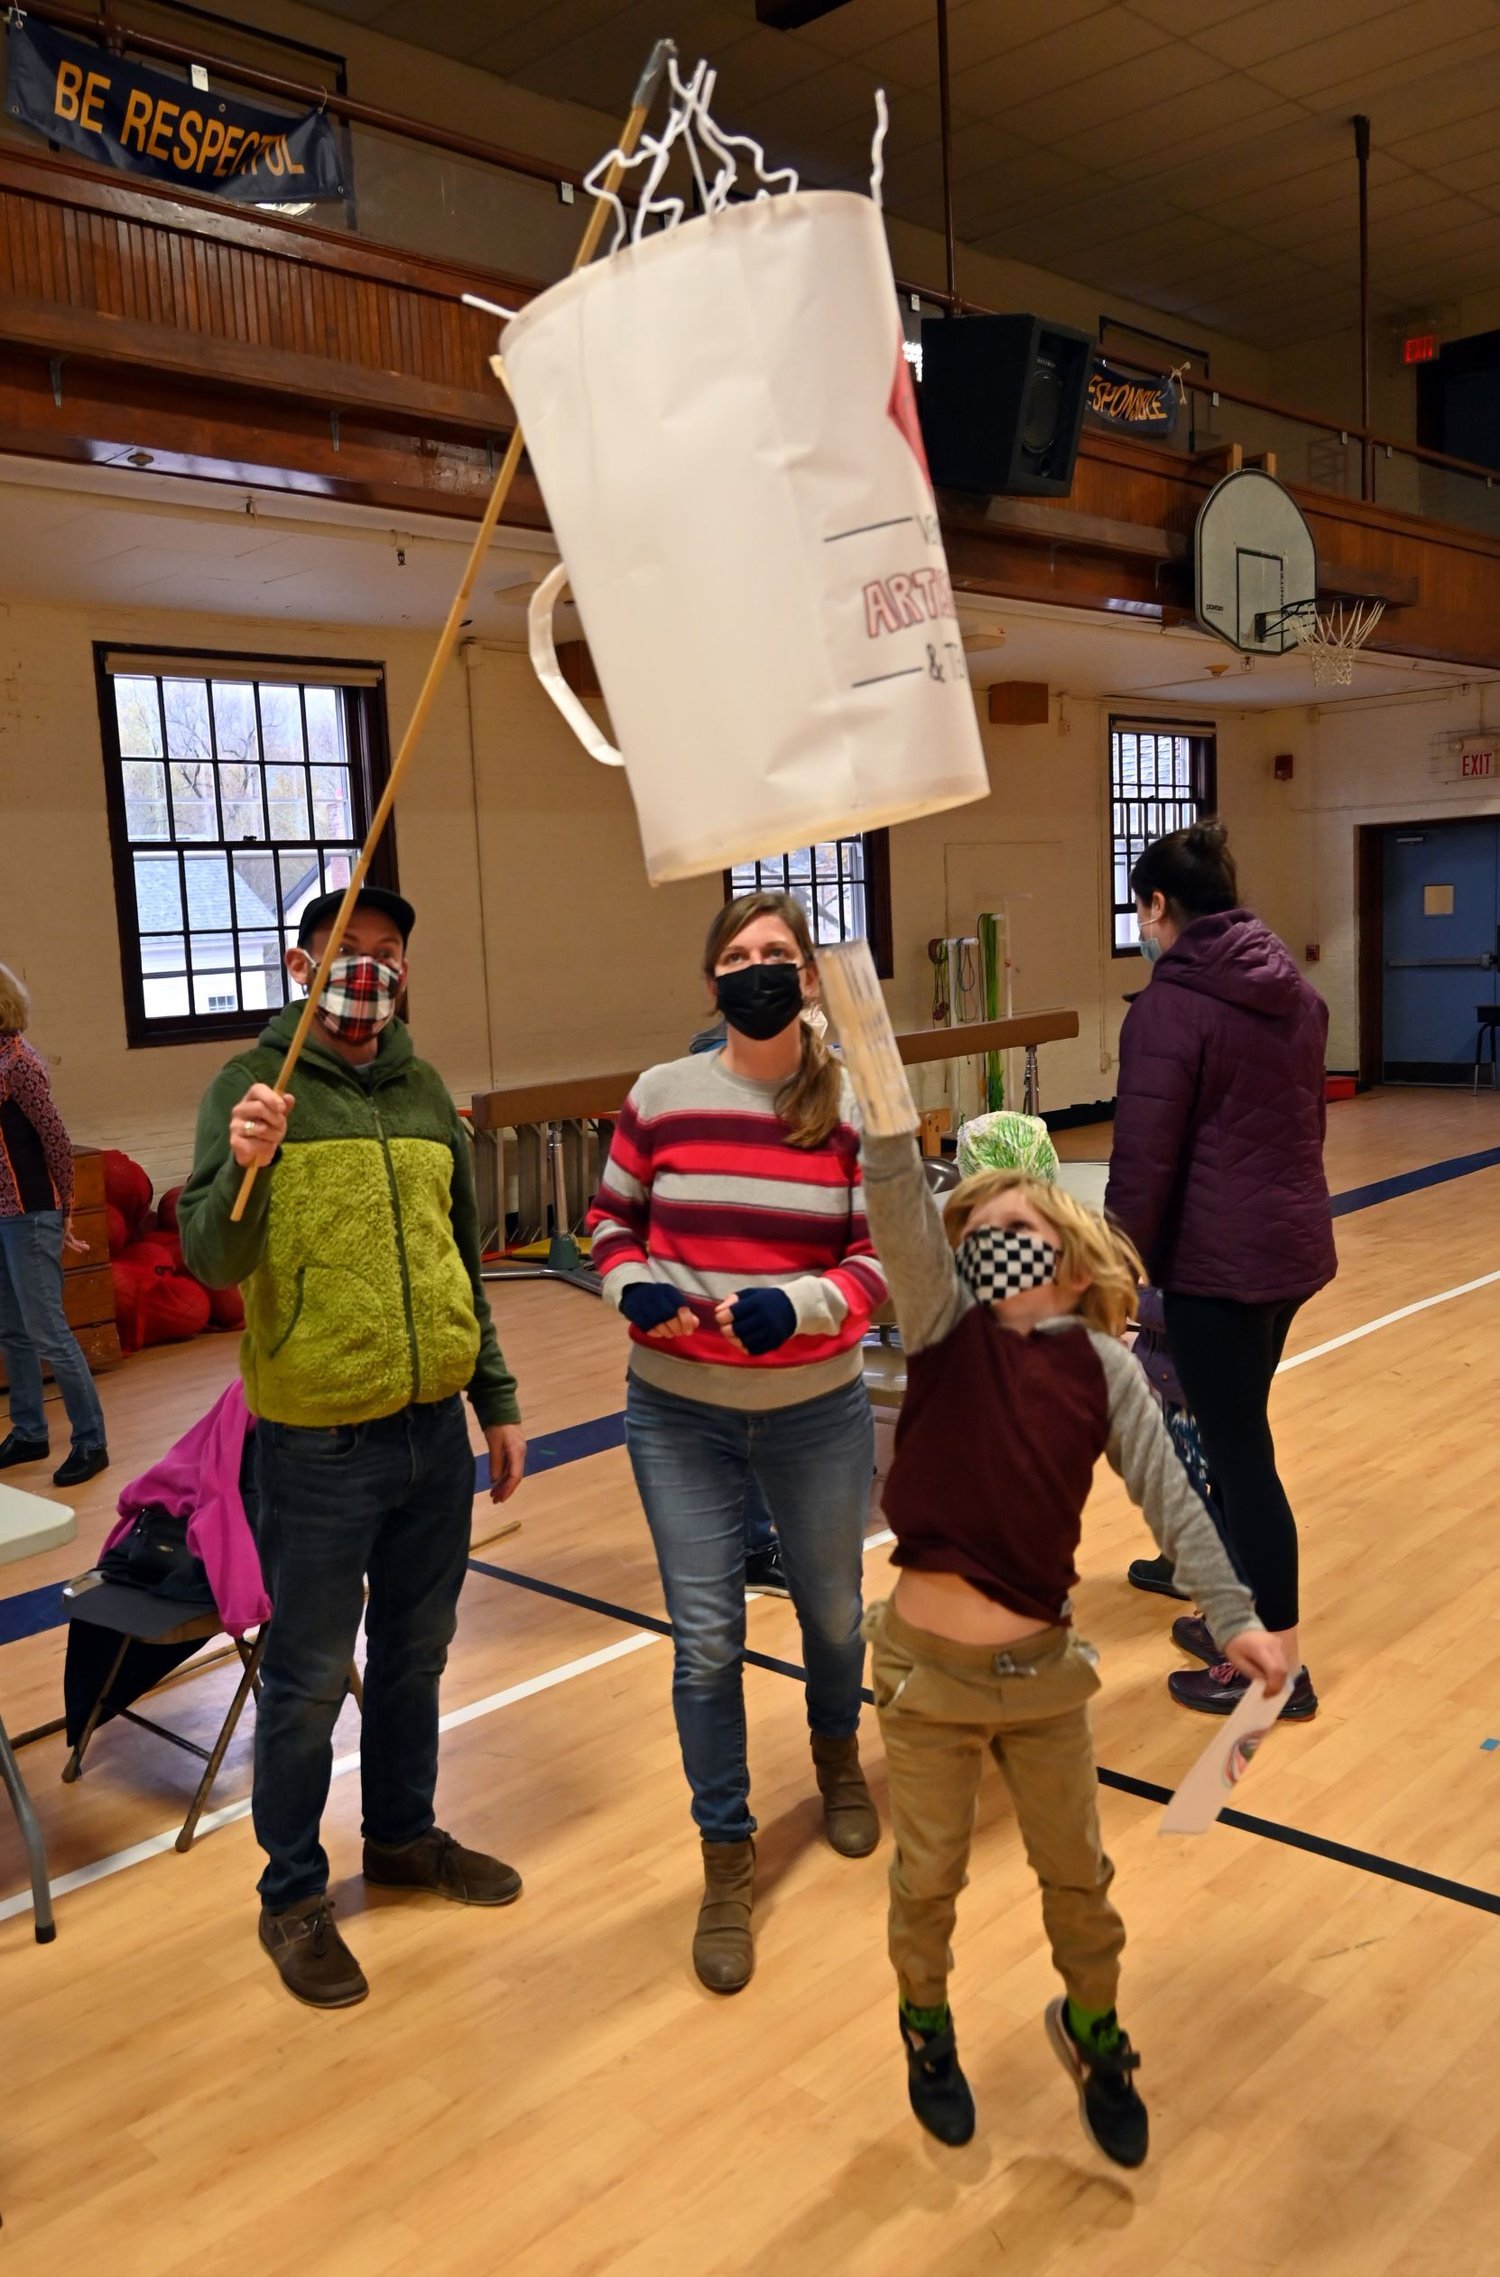
[[[1106,1134],[1097,1134],[1106,1143]],[[1070,1152],[1099,1152],[1072,1134]],[[366,1894],[360,1794],[328,1815],[339,1920],[373,1992],[312,2015],[255,1942],[244,1815],[171,1851],[193,1767],[109,1726],[77,1787],[61,1740],[23,1756],[59,1935],[0,1906],[0,2209],[14,2277],[1104,2277],[1489,2266],[1500,2216],[1500,1102],[1379,1093],[1329,1113],[1336,1193],[1495,1150],[1495,1166],[1341,1218],[1341,1277],[1297,1323],[1275,1421],[1304,1532],[1322,1715],[1241,1790],[1259,1831],[1161,1842],[1106,1785],[1131,1931],[1122,2013],[1145,2054],[1138,2177],[1083,2140],[1040,2015],[1054,1979],[997,1778],[986,1783],[954,1999],[979,2136],[945,2152],[906,2106],[883,1951],[888,1847],[819,1840],[801,1694],[749,1669],[760,1817],[758,1974],[690,1972],[699,1863],[669,1715],[669,1646],[628,1617],[473,1571],[444,1705],[439,1808],[521,1865],[501,1915]],[[1482,1280],[1489,1277],[1489,1280]],[[1464,1289],[1464,1284],[1475,1284]],[[1386,1314],[1434,1300],[1391,1325]],[[590,1298],[496,1296],[533,1444],[576,1460],[512,1505],[487,1564],[628,1612],[660,1589],[615,1419],[624,1337]],[[1352,1339],[1352,1341],[1341,1341]],[[1332,1348],[1329,1348],[1332,1346]],[[228,1380],[230,1339],[105,1382],[114,1469],[73,1548],[0,1573],[7,1598],[89,1562],[123,1480]],[[569,1432],[605,1419],[601,1448]],[[562,1435],[560,1439],[555,1435]],[[57,1441],[55,1441],[57,1444]],[[30,1482],[30,1475],[18,1480]],[[494,1523],[476,1503],[476,1535]],[[1113,1475],[1086,1528],[1079,1626],[1104,1653],[1099,1762],[1170,1787],[1206,1740],[1172,1708],[1172,1605],[1122,1567],[1147,1546]],[[881,1594],[885,1551],[867,1555]],[[0,1603],[0,1624],[25,1608]],[[11,1628],[16,1619],[11,1619]],[[797,1660],[788,1605],[751,1644]],[[0,1626],[0,1635],[7,1633]],[[59,1712],[61,1630],[0,1651],[18,1731]],[[216,1669],[162,1696],[212,1731]],[[248,1790],[250,1717],[219,1799]],[[348,1715],[344,1753],[357,1746]],[[867,1760],[883,1797],[881,1746]],[[1311,1835],[1313,1849],[1300,1847]],[[20,1853],[0,1810],[0,1892]],[[153,1847],[155,1844],[155,1847]]]

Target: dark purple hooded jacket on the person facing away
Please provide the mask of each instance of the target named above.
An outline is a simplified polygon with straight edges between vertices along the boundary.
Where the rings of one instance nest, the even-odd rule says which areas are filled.
[[[1247,909],[1197,918],[1120,1034],[1106,1209],[1159,1289],[1270,1305],[1338,1271],[1327,1004]]]

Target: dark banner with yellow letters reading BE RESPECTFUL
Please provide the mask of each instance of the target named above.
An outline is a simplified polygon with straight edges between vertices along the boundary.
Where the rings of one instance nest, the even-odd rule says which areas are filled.
[[[9,25],[5,109],[77,157],[234,205],[344,196],[339,137],[321,112],[232,102],[34,16]]]

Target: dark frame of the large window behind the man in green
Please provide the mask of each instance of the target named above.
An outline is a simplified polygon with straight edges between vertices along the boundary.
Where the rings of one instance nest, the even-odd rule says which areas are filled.
[[[385,710],[385,665],[378,660],[353,658],[353,656],[273,656],[257,649],[173,649],[162,642],[123,642],[123,640],[96,640],[93,642],[93,679],[98,690],[98,720],[100,720],[100,745],[105,765],[105,815],[109,822],[109,861],[114,874],[114,918],[121,940],[121,986],[125,995],[125,1047],[130,1052],[157,1050],[164,1045],[180,1043],[241,1043],[246,1036],[259,1036],[273,1011],[216,1011],[216,1013],[182,1013],[171,1020],[153,1020],[146,1016],[146,981],[141,972],[141,929],[137,913],[137,886],[134,886],[134,854],[143,849],[143,840],[132,840],[125,820],[125,761],[121,756],[121,726],[114,706],[114,681],[123,674],[107,672],[105,658],[141,656],[141,658],[171,658],[182,665],[182,679],[205,679],[212,683],[212,672],[193,672],[193,665],[209,667],[214,663],[232,663],[248,667],[266,667],[266,679],[285,679],[294,685],[314,685],[300,679],[303,672],[314,674],[339,674],[360,672],[376,674],[373,685],[339,685],[344,697],[344,722],[348,740],[348,788],[353,808],[353,831],[351,842],[357,847],[364,842],[369,831],[369,820],[380,804],[380,792],[389,781],[392,772],[392,747],[389,726]],[[141,674],[143,679],[162,679],[159,669]],[[171,679],[171,674],[166,674]],[[328,685],[321,681],[316,685]],[[209,704],[212,710],[212,704]],[[262,761],[264,763],[264,761]],[[164,754],[166,765],[166,754]],[[171,783],[171,779],[168,779]],[[168,790],[171,797],[171,790]],[[193,840],[205,849],[214,847],[278,847],[278,838],[237,838],[237,840]],[[332,840],[321,840],[307,833],[307,845],[323,847]],[[178,838],[166,840],[166,845],[180,845]],[[398,886],[396,872],[396,827],[394,820],[387,822],[380,833],[380,845],[376,847],[373,861],[369,865],[371,886]],[[187,936],[184,936],[187,938]],[[191,970],[191,952],[189,952]]]

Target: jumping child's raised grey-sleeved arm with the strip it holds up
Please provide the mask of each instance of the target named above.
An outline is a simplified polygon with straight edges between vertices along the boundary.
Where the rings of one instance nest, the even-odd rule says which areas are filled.
[[[860,1104],[865,1214],[897,1307],[901,1346],[920,1353],[974,1302],[958,1280],[917,1152],[917,1109],[869,950],[851,940],[817,959],[824,1002]]]

